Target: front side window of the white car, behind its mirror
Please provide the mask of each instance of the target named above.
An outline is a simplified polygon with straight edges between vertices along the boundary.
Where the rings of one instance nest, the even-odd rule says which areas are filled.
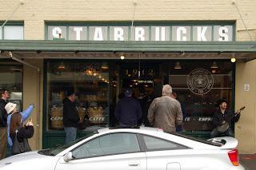
[[[140,148],[135,134],[112,133],[90,140],[75,148],[72,156],[78,159],[139,151]]]

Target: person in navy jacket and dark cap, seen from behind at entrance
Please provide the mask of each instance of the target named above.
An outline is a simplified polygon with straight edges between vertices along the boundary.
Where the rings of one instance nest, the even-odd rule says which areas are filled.
[[[129,128],[138,126],[142,118],[142,108],[138,100],[132,97],[132,90],[125,89],[124,97],[118,101],[114,110],[114,116],[118,120],[119,127]]]

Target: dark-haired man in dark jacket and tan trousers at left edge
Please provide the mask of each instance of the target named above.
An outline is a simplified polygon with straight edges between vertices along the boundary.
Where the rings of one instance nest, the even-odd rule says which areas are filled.
[[[0,99],[0,160],[6,157],[7,148],[7,113],[5,106],[10,94],[7,89],[1,89],[1,99]]]

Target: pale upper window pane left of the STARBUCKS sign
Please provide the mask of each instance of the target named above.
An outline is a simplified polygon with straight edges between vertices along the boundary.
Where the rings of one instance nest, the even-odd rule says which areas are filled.
[[[4,26],[3,32],[6,40],[23,39],[23,26]]]

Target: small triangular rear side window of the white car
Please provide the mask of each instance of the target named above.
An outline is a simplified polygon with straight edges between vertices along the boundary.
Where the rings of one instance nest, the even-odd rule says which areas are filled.
[[[153,136],[142,136],[146,144],[147,151],[154,150],[174,150],[174,149],[183,149],[186,148],[180,144],[175,144],[168,140],[162,140]]]

